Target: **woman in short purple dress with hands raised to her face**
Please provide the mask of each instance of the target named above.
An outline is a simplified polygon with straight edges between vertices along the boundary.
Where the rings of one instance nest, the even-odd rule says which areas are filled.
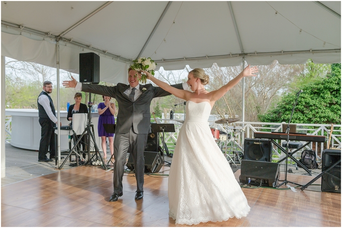
[[[107,143],[106,138],[109,140],[109,149],[111,150],[111,156],[114,154],[114,134],[109,134],[105,131],[103,124],[115,124],[114,115],[116,112],[115,103],[111,102],[111,97],[102,96],[104,102],[100,102],[98,105],[99,122],[98,132],[101,137],[102,150],[104,153],[104,161],[107,159]]]

